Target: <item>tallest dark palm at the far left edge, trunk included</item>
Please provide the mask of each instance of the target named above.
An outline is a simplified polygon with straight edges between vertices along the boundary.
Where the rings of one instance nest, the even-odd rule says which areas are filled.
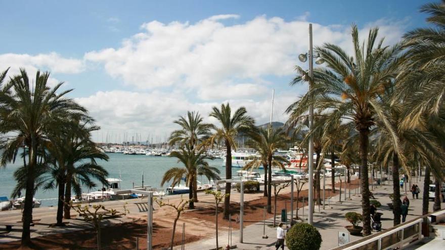
[[[71,90],[59,94],[62,82],[54,88],[48,86],[49,73],[37,71],[35,85],[32,87],[24,69],[11,78],[0,93],[0,133],[12,133],[14,136],[4,146],[1,165],[14,161],[14,156],[22,145],[28,146],[26,194],[23,209],[22,246],[29,246],[30,224],[32,220],[32,198],[34,181],[38,172],[37,152],[46,141],[46,134],[51,124],[64,124],[73,115],[86,113],[86,110],[65,95]]]

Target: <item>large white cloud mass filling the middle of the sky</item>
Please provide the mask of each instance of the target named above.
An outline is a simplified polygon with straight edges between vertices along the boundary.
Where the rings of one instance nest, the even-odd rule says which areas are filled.
[[[259,16],[232,25],[223,20],[239,16],[217,15],[193,24],[144,23],[141,32],[121,46],[84,56],[139,92],[98,92],[80,101],[104,129],[168,133],[177,116],[188,110],[207,116],[212,106],[222,102],[230,102],[234,108],[245,106],[258,123],[265,123],[274,87],[274,120],[284,122],[287,117],[283,112],[305,88],[289,88],[287,81],[295,74],[294,65],[300,64],[297,56],[307,51],[308,15],[293,21]],[[361,27],[361,38],[375,25],[380,27],[380,36],[387,37],[386,44],[396,42],[404,32],[403,22],[381,19]],[[315,46],[334,43],[352,54],[349,25],[314,23],[313,33]]]

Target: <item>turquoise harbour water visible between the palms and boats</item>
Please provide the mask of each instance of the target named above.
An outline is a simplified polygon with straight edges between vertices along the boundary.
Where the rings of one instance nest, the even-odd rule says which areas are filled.
[[[155,188],[165,189],[170,183],[160,186],[162,176],[165,171],[171,167],[182,167],[180,163],[177,163],[175,158],[170,157],[153,157],[144,155],[123,155],[123,154],[108,154],[110,157],[108,162],[100,161],[98,164],[102,165],[109,173],[108,178],[120,178],[122,179],[121,187],[123,189],[132,188],[133,182],[135,186],[142,185],[142,172],[144,171],[144,186],[152,186]],[[225,169],[222,167],[222,159],[209,160],[209,164],[214,167],[218,167],[221,171],[221,176],[225,176]],[[19,160],[15,164],[9,164],[4,169],[0,169],[0,196],[8,196],[11,198],[11,192],[15,186],[15,180],[13,177],[14,171],[20,167],[21,161]],[[239,168],[232,168],[233,175]],[[262,173],[262,170],[259,170]],[[198,180],[203,184],[207,183],[205,177],[198,177]],[[97,189],[102,188],[102,185],[98,185]],[[83,190],[87,192],[88,190]],[[22,195],[25,192],[22,191]],[[41,206],[54,206],[57,204],[57,189],[53,190],[37,190],[34,195],[36,199],[41,199]]]

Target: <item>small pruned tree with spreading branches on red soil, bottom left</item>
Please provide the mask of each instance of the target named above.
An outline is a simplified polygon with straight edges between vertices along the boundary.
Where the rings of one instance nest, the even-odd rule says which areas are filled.
[[[83,207],[80,204],[74,206],[72,202],[70,202],[69,206],[74,209],[80,217],[83,217],[84,221],[90,222],[93,225],[93,228],[97,233],[97,245],[99,250],[101,249],[101,221],[105,218],[118,217],[129,213],[126,204],[123,206],[123,212],[119,212],[115,209],[106,209],[103,205],[94,205],[92,211],[90,211],[90,207],[87,205]]]

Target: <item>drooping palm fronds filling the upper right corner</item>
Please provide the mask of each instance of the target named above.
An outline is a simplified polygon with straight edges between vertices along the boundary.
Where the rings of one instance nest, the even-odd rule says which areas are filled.
[[[430,15],[426,21],[431,26],[404,35],[408,52],[403,73],[408,79],[399,89],[409,96],[407,122],[411,124],[418,123],[420,116],[441,113],[445,96],[445,0],[426,4],[420,11]]]

